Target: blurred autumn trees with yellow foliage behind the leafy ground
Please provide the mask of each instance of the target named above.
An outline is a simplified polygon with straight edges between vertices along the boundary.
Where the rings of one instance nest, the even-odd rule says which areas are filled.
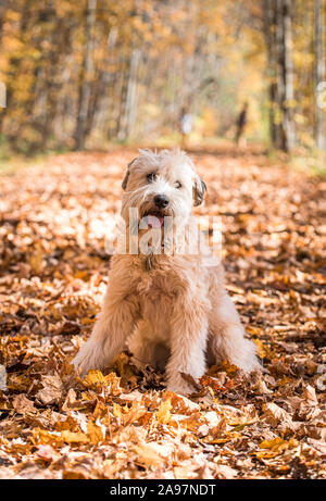
[[[325,0],[1,0],[0,156],[223,141],[323,151],[325,16]]]

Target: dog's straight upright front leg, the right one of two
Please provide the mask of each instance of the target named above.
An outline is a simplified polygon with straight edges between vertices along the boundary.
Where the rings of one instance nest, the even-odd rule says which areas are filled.
[[[205,371],[205,347],[208,339],[208,317],[205,309],[190,304],[178,309],[172,317],[171,358],[167,363],[167,386],[173,391],[188,394],[195,391],[181,373],[193,379]]]

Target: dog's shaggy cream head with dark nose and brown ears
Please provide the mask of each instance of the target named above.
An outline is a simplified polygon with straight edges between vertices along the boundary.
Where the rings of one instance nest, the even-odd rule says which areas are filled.
[[[139,152],[129,163],[122,184],[123,217],[127,221],[129,209],[137,208],[140,218],[154,216],[161,226],[164,216],[186,223],[192,206],[202,203],[206,189],[192,161],[180,150]]]

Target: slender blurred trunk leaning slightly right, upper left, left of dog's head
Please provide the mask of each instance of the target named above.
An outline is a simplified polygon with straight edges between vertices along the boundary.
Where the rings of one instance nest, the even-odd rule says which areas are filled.
[[[89,102],[91,93],[91,75],[93,70],[92,51],[93,51],[93,27],[96,23],[97,0],[87,1],[87,14],[85,26],[85,46],[84,61],[79,84],[79,98],[77,111],[77,124],[75,129],[75,149],[79,150],[85,147],[87,120],[89,112]]]

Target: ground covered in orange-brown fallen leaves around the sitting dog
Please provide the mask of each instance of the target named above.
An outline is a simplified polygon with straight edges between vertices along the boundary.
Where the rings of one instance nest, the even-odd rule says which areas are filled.
[[[211,367],[190,398],[164,375],[75,379],[108,283],[129,149],[0,177],[0,478],[325,478],[325,180],[256,151],[195,151],[221,215],[226,287],[266,373]],[[324,191],[324,196],[323,196]]]

